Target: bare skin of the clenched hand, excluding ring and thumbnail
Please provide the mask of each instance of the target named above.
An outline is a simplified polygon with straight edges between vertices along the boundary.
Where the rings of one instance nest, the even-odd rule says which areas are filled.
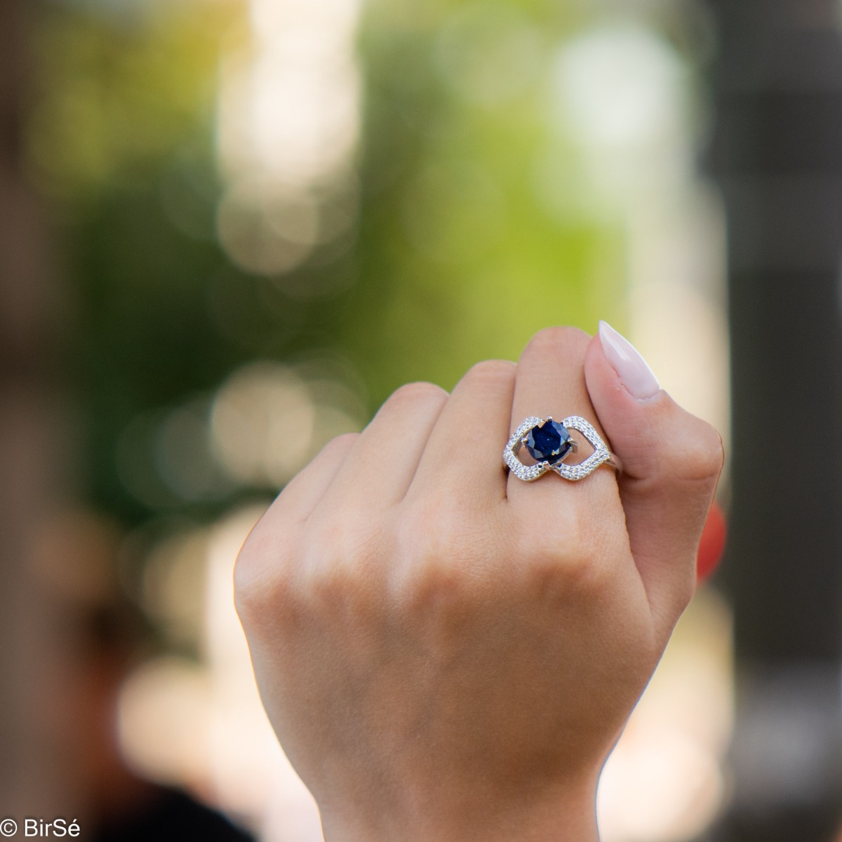
[[[509,434],[549,414],[594,422],[621,477],[509,477]],[[235,585],[325,839],[599,839],[600,770],[693,593],[721,468],[714,429],[632,397],[573,328],[450,395],[403,386],[322,450]]]

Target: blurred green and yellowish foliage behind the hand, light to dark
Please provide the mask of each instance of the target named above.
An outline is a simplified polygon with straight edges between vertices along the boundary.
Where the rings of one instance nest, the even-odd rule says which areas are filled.
[[[514,359],[547,324],[621,320],[619,227],[559,213],[539,184],[548,155],[576,166],[547,80],[582,24],[563,2],[370,3],[354,244],[280,284],[237,268],[215,232],[218,67],[242,5],[42,6],[29,160],[66,257],[93,504],[134,524],[205,520],[269,491],[185,499],[154,476],[161,419],[204,412],[249,360],[333,354],[373,411],[404,381],[450,387],[477,360]],[[148,464],[155,493],[127,488],[125,460]]]

